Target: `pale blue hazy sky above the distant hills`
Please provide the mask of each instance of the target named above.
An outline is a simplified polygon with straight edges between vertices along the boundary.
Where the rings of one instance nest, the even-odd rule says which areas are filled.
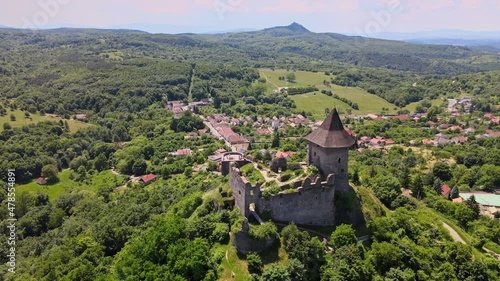
[[[0,25],[30,28],[156,25],[206,32],[298,22],[349,34],[499,31],[499,15],[500,0],[0,0]]]

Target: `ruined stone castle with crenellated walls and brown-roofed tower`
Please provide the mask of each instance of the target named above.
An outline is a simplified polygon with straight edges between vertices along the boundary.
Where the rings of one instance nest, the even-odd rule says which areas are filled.
[[[229,183],[235,206],[245,218],[262,221],[265,215],[275,222],[335,224],[335,194],[349,190],[348,150],[355,140],[344,129],[336,109],[305,139],[309,142],[308,164],[317,167],[320,175],[295,179],[280,186],[277,194],[263,196],[266,184],[250,184],[233,162]]]

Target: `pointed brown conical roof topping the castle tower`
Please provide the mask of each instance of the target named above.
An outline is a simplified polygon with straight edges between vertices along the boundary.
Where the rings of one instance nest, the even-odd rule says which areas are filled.
[[[306,140],[324,148],[349,148],[356,142],[344,129],[336,108]]]

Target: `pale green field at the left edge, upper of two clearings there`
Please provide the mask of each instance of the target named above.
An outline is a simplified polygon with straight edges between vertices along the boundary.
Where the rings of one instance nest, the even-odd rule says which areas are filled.
[[[10,121],[10,115],[14,114],[16,116],[16,121]],[[26,126],[29,124],[36,124],[43,121],[54,121],[59,122],[59,120],[64,120],[61,117],[51,117],[51,116],[40,116],[39,114],[31,114],[30,118],[26,118],[24,116],[24,111],[15,110],[15,111],[7,111],[7,115],[0,116],[0,132],[3,131],[3,124],[9,123],[13,128],[19,128],[22,126]],[[67,120],[69,124],[69,130],[74,133],[78,131],[78,129],[85,128],[91,126],[90,124],[76,121],[76,120]]]

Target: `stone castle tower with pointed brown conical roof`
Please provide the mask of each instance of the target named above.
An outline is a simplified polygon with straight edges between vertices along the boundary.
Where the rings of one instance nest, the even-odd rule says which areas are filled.
[[[318,167],[324,175],[334,174],[336,190],[347,191],[348,151],[356,141],[344,129],[336,108],[306,140],[309,142],[309,164]]]

